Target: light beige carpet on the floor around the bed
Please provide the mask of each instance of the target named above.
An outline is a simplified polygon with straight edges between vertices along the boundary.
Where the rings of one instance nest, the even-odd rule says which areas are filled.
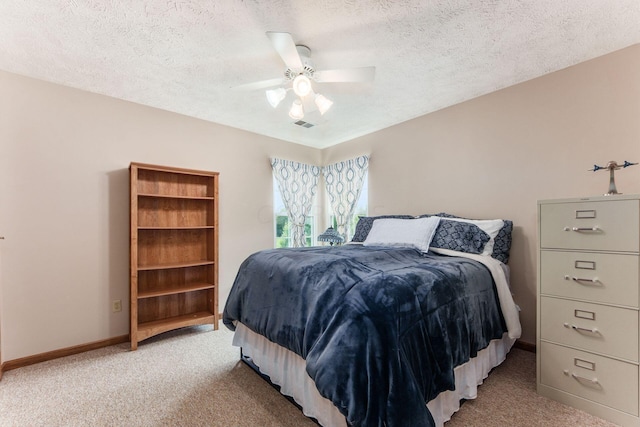
[[[185,328],[5,372],[0,426],[315,426],[239,362],[232,333]],[[446,427],[610,427],[535,393],[535,354],[514,349]]]

